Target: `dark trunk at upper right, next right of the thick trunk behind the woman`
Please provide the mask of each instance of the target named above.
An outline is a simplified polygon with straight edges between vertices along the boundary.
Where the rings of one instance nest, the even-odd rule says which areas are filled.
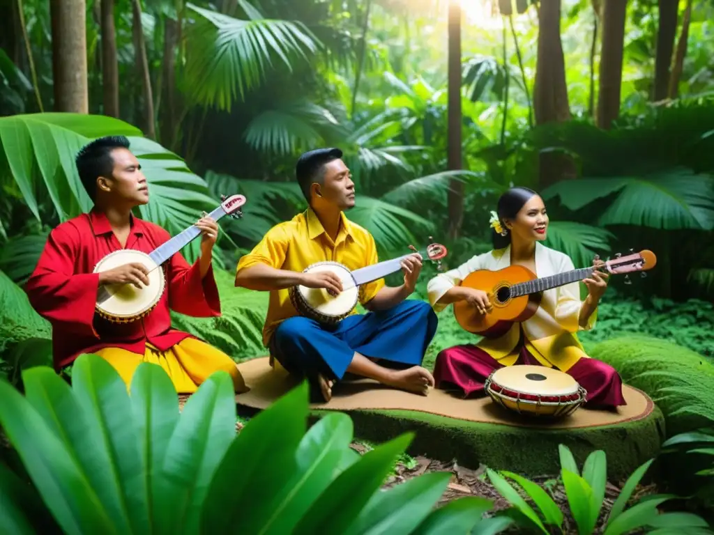
[[[603,49],[600,51],[600,89],[597,124],[609,130],[620,115],[620,89],[623,79],[627,1],[605,0],[603,3]]]

